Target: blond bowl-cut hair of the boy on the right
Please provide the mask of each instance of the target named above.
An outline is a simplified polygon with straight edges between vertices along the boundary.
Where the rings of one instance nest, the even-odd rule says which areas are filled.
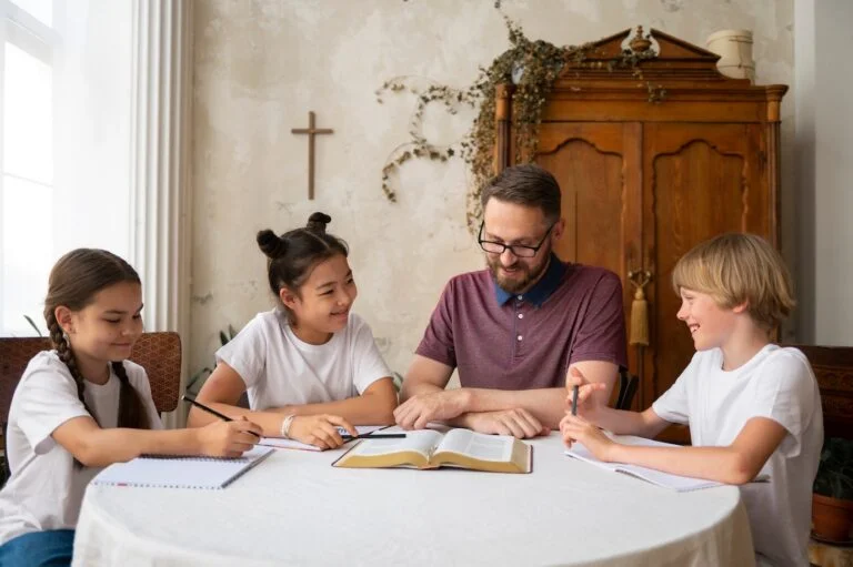
[[[682,287],[706,293],[724,308],[746,303],[752,320],[766,330],[796,303],[782,256],[754,234],[721,234],[693,247],[675,264],[672,286],[675,293]]]

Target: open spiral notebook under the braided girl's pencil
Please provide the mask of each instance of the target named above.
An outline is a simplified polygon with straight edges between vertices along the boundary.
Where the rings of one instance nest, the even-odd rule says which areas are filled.
[[[144,456],[104,468],[96,485],[221,489],[270,456],[255,446],[237,458]]]

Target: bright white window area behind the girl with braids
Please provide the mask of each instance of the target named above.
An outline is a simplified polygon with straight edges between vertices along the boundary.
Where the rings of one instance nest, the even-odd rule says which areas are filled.
[[[71,249],[129,250],[131,4],[0,0],[0,335]]]

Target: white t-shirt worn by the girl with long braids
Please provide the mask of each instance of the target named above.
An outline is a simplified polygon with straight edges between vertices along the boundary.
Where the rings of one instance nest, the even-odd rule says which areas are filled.
[[[124,361],[124,369],[148,409],[151,428],[161,429],[145,371],[130,361]],[[118,425],[120,388],[112,371],[103,385],[86,382],[86,402],[103,428]],[[6,455],[12,476],[0,490],[0,545],[30,531],[77,525],[86,486],[100,468],[74,466],[74,457],[51,435],[69,419],[87,415],[74,378],[56,351],[37,354],[9,408]]]

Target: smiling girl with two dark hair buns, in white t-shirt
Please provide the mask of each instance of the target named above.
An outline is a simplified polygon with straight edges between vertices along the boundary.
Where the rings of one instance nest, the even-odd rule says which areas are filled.
[[[340,446],[339,427],[394,423],[397,391],[368,324],[350,310],[358,290],[347,244],[325,232],[331,217],[313,213],[305,227],[281,236],[265,230],[277,308],[260,313],[217,352],[217,367],[198,399],[231,417],[245,416],[268,437],[322,449]],[[243,392],[251,409],[238,407]],[[190,409],[190,425],[210,423]]]

